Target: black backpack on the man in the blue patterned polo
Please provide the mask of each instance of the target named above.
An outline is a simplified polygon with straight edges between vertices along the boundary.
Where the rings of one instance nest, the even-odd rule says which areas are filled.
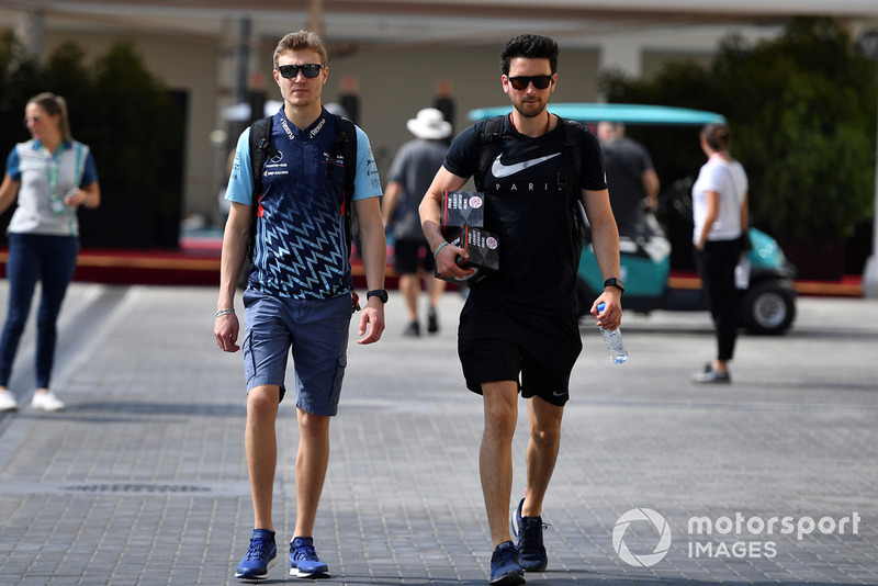
[[[345,116],[333,114],[336,119],[336,137],[329,148],[329,160],[326,165],[326,179],[331,179],[339,156],[345,165],[345,234],[348,253],[351,247],[351,214],[353,201],[353,182],[357,178],[357,128]],[[280,151],[271,144],[271,120],[273,116],[259,119],[250,127],[250,168],[254,176],[254,201],[250,216],[250,237],[247,241],[247,258],[252,261],[256,249],[256,222],[258,217],[258,199],[262,195],[262,168],[266,161]]]

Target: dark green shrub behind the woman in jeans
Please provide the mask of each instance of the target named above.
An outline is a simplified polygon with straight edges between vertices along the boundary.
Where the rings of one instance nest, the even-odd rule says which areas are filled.
[[[83,246],[176,248],[182,189],[183,112],[130,42],[88,66],[74,43],[43,65],[29,60],[11,35],[0,37],[0,151],[29,138],[26,101],[63,95],[77,140],[92,149],[102,203],[80,211]]]

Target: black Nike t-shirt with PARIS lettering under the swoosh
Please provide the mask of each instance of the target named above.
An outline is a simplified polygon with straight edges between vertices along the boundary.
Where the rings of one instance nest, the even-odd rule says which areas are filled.
[[[444,168],[458,177],[472,177],[480,159],[479,135],[483,122],[466,128],[451,143]],[[576,312],[574,198],[571,153],[563,147],[563,122],[542,136],[531,138],[504,120],[500,145],[495,148],[484,178],[485,229],[499,246],[499,270],[473,283],[473,302],[488,302],[510,309],[541,314]],[[577,132],[576,128],[579,128]],[[582,176],[579,189],[606,189],[604,160],[597,138],[585,127],[567,127],[579,140]]]

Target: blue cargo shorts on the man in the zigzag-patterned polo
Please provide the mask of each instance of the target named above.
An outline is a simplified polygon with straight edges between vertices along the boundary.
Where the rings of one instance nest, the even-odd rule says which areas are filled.
[[[294,300],[248,289],[244,307],[247,391],[277,385],[283,399],[292,348],[296,407],[314,415],[336,415],[348,363],[350,295]]]

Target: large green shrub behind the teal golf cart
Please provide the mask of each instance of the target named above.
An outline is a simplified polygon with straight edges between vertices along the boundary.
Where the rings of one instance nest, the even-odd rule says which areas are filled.
[[[609,101],[723,114],[750,177],[755,223],[781,240],[844,239],[874,214],[876,64],[830,19],[793,19],[778,38],[753,46],[730,36],[709,68],[671,64],[649,82],[610,72],[601,87]],[[656,167],[687,174],[682,160],[663,159],[690,147],[649,134],[638,138]]]

